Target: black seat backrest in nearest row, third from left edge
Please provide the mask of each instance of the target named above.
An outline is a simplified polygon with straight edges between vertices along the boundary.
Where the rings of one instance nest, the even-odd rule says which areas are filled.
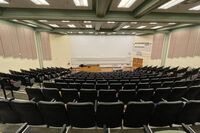
[[[64,124],[69,125],[64,103],[40,101],[38,107],[47,125],[55,127],[61,127]]]

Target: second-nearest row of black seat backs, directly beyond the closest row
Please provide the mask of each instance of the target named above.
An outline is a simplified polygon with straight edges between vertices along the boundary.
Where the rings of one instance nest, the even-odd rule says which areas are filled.
[[[200,86],[175,87],[175,88],[157,88],[136,90],[91,90],[81,89],[61,89],[56,88],[26,88],[29,99],[34,101],[63,101],[65,103],[78,102],[116,102],[122,101],[127,104],[129,101],[154,101],[159,102],[162,99],[167,101],[177,101],[186,98],[189,100],[200,100]]]

